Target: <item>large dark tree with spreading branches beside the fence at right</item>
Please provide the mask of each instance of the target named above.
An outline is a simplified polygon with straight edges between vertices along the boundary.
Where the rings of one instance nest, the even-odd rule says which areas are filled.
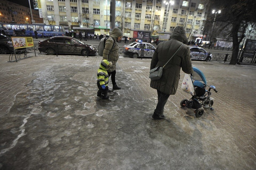
[[[208,11],[211,11],[214,8],[221,10],[221,13],[216,16],[213,22],[222,23],[223,28],[225,29],[221,30],[219,28],[218,32],[226,35],[227,37],[231,37],[233,41],[233,51],[230,64],[237,64],[239,44],[245,37],[246,28],[248,27],[249,24],[256,23],[256,1],[204,0],[204,2],[209,8]],[[214,29],[214,31],[216,29]]]

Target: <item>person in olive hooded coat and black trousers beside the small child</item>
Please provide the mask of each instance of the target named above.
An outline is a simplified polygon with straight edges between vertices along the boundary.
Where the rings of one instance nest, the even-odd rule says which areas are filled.
[[[105,34],[104,34],[105,35]],[[110,34],[110,38],[106,39],[105,48],[103,50],[103,60],[112,62],[112,66],[107,70],[109,77],[111,76],[111,82],[113,90],[119,90],[121,87],[117,86],[115,82],[116,63],[119,58],[117,42],[123,37],[123,32],[119,28],[114,28]]]

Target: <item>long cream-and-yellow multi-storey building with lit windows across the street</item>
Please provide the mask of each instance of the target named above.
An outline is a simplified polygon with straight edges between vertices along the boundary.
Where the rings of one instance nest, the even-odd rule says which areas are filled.
[[[94,28],[96,33],[110,29],[110,0],[38,0],[44,22]],[[200,0],[121,0],[116,1],[115,25],[131,37],[131,29],[171,32],[180,25],[187,36],[202,36],[205,7]],[[168,9],[167,9],[168,8]],[[39,8],[40,9],[40,8]]]

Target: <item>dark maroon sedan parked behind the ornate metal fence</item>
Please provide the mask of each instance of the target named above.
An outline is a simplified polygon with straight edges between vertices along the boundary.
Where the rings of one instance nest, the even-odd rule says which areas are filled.
[[[48,55],[58,54],[82,54],[83,56],[95,54],[94,46],[86,45],[81,41],[66,36],[55,36],[44,41],[39,41],[38,50]]]

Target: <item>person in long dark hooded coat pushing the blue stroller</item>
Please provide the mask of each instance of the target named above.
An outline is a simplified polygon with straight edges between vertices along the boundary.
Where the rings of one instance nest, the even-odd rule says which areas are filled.
[[[177,51],[173,58],[163,68],[162,77],[158,80],[151,80],[150,87],[157,90],[158,103],[155,108],[152,119],[163,119],[164,106],[170,95],[174,95],[178,88],[180,79],[180,70],[187,74],[193,73],[193,68],[190,58],[190,48],[186,32],[183,27],[177,26],[169,41],[159,43],[157,46],[150,64],[150,70],[155,67],[163,67],[171,56]]]

